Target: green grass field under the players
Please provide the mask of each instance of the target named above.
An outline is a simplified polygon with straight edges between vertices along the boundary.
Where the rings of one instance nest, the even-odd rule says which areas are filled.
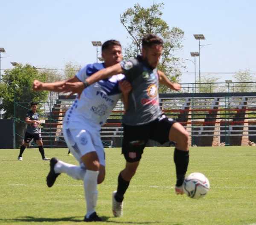
[[[81,223],[85,213],[83,185],[66,174],[51,188],[46,185],[49,161],[38,149],[0,150],[0,224]],[[46,149],[77,164],[67,149]],[[131,225],[256,225],[256,147],[192,147],[188,173],[204,173],[211,190],[204,199],[174,193],[173,148],[150,147],[143,154],[137,174],[125,195],[124,216],[111,212],[111,194],[125,161],[119,148],[106,149],[107,173],[98,186],[97,213],[104,222]]]

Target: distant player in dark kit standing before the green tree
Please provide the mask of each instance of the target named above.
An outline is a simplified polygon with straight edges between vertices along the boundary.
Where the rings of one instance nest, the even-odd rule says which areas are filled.
[[[39,152],[41,153],[43,160],[50,160],[44,156],[44,147],[43,147],[43,141],[40,133],[40,129],[38,128],[41,122],[38,120],[39,116],[36,112],[38,108],[37,102],[31,102],[30,104],[31,110],[27,112],[25,122],[27,123],[27,129],[24,137],[24,143],[20,147],[20,154],[18,156],[18,160],[22,161],[22,154],[25,150],[25,148],[28,146],[29,142],[34,139],[36,144],[38,145]]]

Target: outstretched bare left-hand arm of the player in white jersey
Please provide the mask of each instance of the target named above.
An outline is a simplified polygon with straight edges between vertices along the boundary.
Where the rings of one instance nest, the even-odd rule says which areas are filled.
[[[73,78],[70,78],[69,80],[64,81],[55,81],[52,83],[44,83],[38,80],[35,80],[33,82],[33,90],[34,91],[53,91],[53,92],[63,92],[63,86],[66,82],[77,82],[79,79],[75,76]]]

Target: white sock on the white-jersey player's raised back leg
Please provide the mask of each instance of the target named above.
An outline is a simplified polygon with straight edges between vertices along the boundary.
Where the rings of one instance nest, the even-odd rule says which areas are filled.
[[[86,169],[60,160],[55,164],[54,171],[55,173],[67,173],[76,180],[83,180],[86,173]]]

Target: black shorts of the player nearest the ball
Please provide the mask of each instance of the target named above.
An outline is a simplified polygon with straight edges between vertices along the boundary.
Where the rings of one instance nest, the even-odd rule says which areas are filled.
[[[140,161],[148,139],[157,141],[160,144],[168,142],[169,131],[174,123],[176,123],[174,119],[161,115],[156,120],[140,126],[123,124],[122,154],[124,154],[125,160],[127,162]]]

